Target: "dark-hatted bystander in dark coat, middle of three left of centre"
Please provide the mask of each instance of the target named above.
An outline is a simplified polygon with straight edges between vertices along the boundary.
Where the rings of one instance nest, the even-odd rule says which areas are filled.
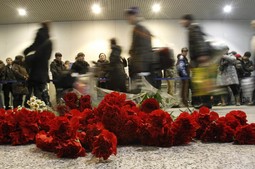
[[[76,61],[71,67],[71,71],[79,74],[86,74],[89,71],[89,64],[84,60],[85,54],[80,52],[77,54]]]

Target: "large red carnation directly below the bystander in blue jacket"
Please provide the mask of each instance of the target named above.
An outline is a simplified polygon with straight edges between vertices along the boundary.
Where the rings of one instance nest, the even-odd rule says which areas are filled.
[[[181,113],[172,123],[171,129],[174,134],[174,145],[188,144],[196,136],[198,124],[193,116],[187,112]]]

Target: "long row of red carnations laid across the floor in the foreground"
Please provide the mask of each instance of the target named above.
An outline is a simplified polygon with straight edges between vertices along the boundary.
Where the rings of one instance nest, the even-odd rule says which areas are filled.
[[[193,139],[255,144],[255,124],[248,124],[245,112],[240,110],[220,117],[202,107],[191,114],[182,112],[173,120],[151,98],[138,106],[126,100],[125,94],[113,92],[94,108],[88,95],[67,93],[64,100],[65,105],[58,109],[60,116],[37,106],[0,109],[0,144],[35,143],[60,158],[83,157],[91,152],[104,160],[116,155],[117,144],[171,147],[189,144]],[[32,98],[30,103],[34,101]]]

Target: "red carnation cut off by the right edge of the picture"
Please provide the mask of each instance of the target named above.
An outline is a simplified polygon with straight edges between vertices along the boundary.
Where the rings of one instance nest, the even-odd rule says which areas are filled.
[[[235,143],[255,144],[255,123],[237,127]]]

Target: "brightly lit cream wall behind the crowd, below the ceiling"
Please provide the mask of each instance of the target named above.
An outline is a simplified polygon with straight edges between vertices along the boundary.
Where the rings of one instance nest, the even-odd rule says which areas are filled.
[[[252,29],[250,21],[228,20],[203,20],[198,21],[204,32],[212,37],[224,40],[230,47],[240,54],[250,50]],[[175,54],[187,46],[186,30],[178,20],[146,20],[143,24],[154,35],[153,46],[171,46]],[[35,37],[39,24],[11,24],[0,25],[0,59],[14,58],[22,54]],[[78,52],[84,52],[85,60],[97,60],[99,53],[109,56],[109,39],[117,38],[122,46],[122,56],[129,57],[128,51],[131,44],[132,26],[126,21],[80,21],[80,22],[55,22],[51,27],[51,38],[55,52],[63,54],[63,60],[74,61]]]

